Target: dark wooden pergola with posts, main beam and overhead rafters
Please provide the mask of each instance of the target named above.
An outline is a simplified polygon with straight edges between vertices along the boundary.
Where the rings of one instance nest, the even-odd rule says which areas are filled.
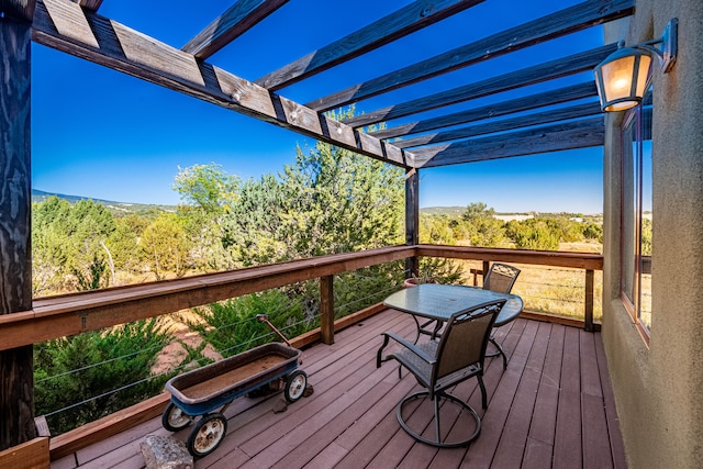
[[[533,65],[342,121],[326,111],[491,60],[634,12],[634,0],[589,0],[492,34],[306,103],[287,87],[362,57],[459,14],[481,0],[417,0],[263,77],[241,77],[211,57],[286,0],[238,0],[186,45],[169,45],[100,14],[101,0],[8,0],[0,5],[0,314],[32,309],[30,43],[35,42],[212,104],[286,127],[406,171],[406,242],[417,244],[419,170],[487,159],[602,146],[604,122],[595,83],[558,79],[591,70],[615,44]],[[164,8],[168,8],[167,4]],[[336,9],[336,7],[335,7]],[[334,10],[334,9],[333,9]],[[335,12],[331,11],[331,15]],[[336,21],[336,20],[335,20]],[[275,53],[275,52],[274,52]],[[453,105],[535,83],[548,90],[456,111]],[[423,113],[432,111],[431,118]],[[415,115],[417,114],[417,118]],[[409,119],[410,118],[410,119]],[[398,122],[398,123],[397,123]],[[372,127],[387,123],[384,127]],[[411,266],[412,267],[412,266]],[[1,319],[0,319],[1,320]],[[0,449],[33,437],[32,346],[0,351]],[[7,379],[11,377],[11,379]]]

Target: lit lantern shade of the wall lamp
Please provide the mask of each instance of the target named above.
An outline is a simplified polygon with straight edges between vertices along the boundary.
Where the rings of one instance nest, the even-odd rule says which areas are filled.
[[[651,56],[633,47],[621,47],[593,72],[603,111],[624,111],[641,102],[647,89]]]

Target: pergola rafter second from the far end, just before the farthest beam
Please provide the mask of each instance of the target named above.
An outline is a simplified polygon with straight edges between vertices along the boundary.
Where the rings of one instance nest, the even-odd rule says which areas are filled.
[[[599,102],[587,102],[569,108],[555,109],[535,114],[522,115],[520,118],[504,119],[502,121],[471,125],[453,131],[420,135],[414,138],[393,142],[393,145],[399,148],[410,148],[420,145],[437,144],[440,142],[449,142],[459,138],[492,134],[496,132],[512,131],[515,129],[528,127],[532,125],[548,124],[551,122],[566,121],[569,119],[580,119],[589,115],[598,115],[601,112],[601,104]]]

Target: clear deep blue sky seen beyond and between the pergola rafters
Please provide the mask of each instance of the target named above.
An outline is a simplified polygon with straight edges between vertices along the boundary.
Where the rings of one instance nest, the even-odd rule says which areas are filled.
[[[192,8],[175,0],[105,1],[100,13],[180,47],[233,0]],[[208,62],[255,80],[268,71],[388,14],[409,1],[357,0],[345,21],[328,0],[291,0]],[[491,32],[578,3],[576,0],[488,0],[438,25],[280,91],[308,102],[404,65],[468,44]],[[496,14],[496,12],[499,14]],[[326,20],[325,20],[326,16]],[[326,22],[325,22],[326,21]],[[314,29],[316,24],[324,26]],[[442,30],[442,32],[439,32]],[[361,101],[372,111],[458,85],[479,81],[602,44],[593,27],[569,40],[489,60]],[[265,52],[268,47],[269,52]],[[243,179],[279,172],[309,138],[243,116],[92,63],[34,44],[32,80],[32,183],[35,189],[123,202],[176,204],[178,167],[216,163]],[[581,82],[590,74],[562,78]],[[538,92],[544,86],[455,104],[456,110]],[[454,111],[454,109],[451,109]],[[397,125],[433,115],[427,112]],[[507,158],[421,171],[421,206],[486,202],[499,212],[602,211],[602,149]],[[498,189],[496,189],[498,188]]]

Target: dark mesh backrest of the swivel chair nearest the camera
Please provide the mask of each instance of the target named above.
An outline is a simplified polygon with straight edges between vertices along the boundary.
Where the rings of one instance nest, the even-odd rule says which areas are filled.
[[[493,300],[469,311],[454,314],[437,346],[437,362],[432,382],[455,371],[479,364],[483,367],[486,347],[495,316],[506,300]]]

